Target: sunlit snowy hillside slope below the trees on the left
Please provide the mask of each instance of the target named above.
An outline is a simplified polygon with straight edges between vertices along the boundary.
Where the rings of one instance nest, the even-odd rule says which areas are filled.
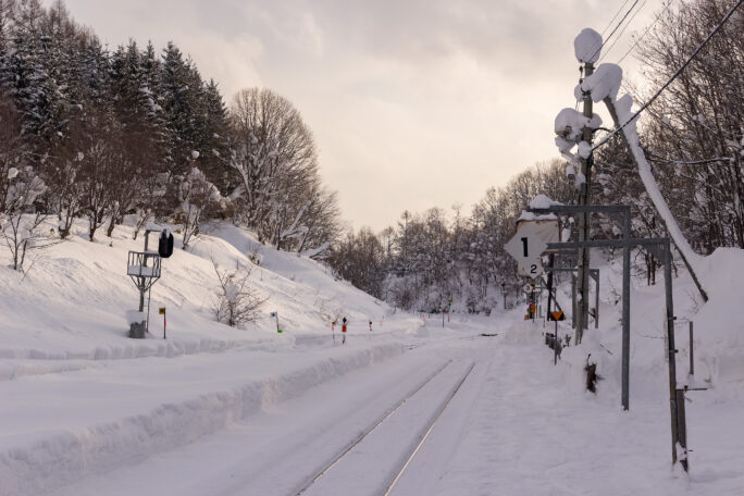
[[[144,240],[141,234],[133,240],[132,228],[119,227],[113,239],[101,236],[95,243],[82,234],[73,236],[27,262],[25,274],[3,266],[0,356],[134,358],[224,349],[246,340],[286,344],[298,337],[330,336],[331,321],[343,317],[350,321],[350,333],[369,333],[369,321],[375,323],[373,332],[384,331],[380,322],[392,309],[335,281],[317,262],[259,246],[247,232],[232,225],[204,231],[213,233],[198,237],[189,251],[178,248],[176,234],[176,250],[163,260],[162,277],[152,287],[152,332],[145,340],[122,339],[128,330],[125,313],[139,301],[126,275],[126,257],[128,250],[141,251]],[[150,246],[156,243],[151,235]],[[246,330],[218,324],[212,312],[218,289],[212,259],[222,269],[252,266],[249,253],[261,258],[250,281],[268,298],[264,318]],[[158,339],[162,337],[160,307],[165,307],[168,315],[165,342]],[[274,311],[286,331],[280,336],[270,318]]]

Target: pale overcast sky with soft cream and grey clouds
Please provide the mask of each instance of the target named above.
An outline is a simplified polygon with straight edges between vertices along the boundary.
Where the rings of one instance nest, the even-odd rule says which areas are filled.
[[[314,134],[344,219],[380,231],[404,210],[469,212],[489,186],[558,158],[554,117],[573,107],[579,77],[573,38],[602,32],[623,0],[66,3],[112,48],[173,40],[227,103],[251,86],[287,98]],[[661,0],[642,3],[606,61],[624,54]]]

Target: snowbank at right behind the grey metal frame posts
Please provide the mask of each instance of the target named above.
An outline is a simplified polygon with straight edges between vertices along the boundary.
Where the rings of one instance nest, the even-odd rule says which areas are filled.
[[[690,274],[679,268],[679,277],[673,277],[675,346],[678,383],[680,385],[700,383],[718,386],[744,385],[744,321],[737,312],[741,295],[744,294],[744,250],[719,248],[706,257],[702,274],[711,288],[707,303],[704,303]],[[593,320],[584,335],[582,346],[563,350],[563,361],[576,370],[583,369],[587,355],[598,363],[604,376],[600,388],[620,388],[621,371],[621,325],[620,325],[620,261],[613,263],[593,260],[599,264],[603,299],[608,297],[607,288],[615,292],[615,301],[600,303],[600,325],[594,328]],[[657,397],[667,390],[666,382],[666,327],[664,275],[657,273],[657,284],[646,286],[640,281],[631,293],[631,402],[634,395]],[[567,288],[563,288],[567,290]],[[611,293],[610,293],[611,294]],[[593,300],[592,296],[592,300]],[[570,297],[568,294],[559,301]],[[563,305],[566,307],[566,305]],[[687,376],[690,363],[689,325],[694,328],[695,379]],[[561,323],[561,334],[569,332],[570,323]],[[644,377],[641,380],[641,377]],[[646,398],[647,399],[647,398]]]

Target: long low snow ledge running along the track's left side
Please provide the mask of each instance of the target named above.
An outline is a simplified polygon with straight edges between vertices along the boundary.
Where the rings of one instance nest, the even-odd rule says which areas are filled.
[[[252,380],[232,390],[164,404],[142,414],[84,430],[52,433],[30,446],[0,454],[3,495],[36,495],[134,464],[154,452],[189,444],[228,427],[262,408],[297,397],[307,389],[357,369],[402,354],[399,344],[343,351],[311,367]]]

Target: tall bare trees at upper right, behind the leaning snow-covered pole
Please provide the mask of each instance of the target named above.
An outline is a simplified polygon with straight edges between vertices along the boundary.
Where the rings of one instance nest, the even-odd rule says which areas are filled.
[[[638,45],[656,88],[687,59],[734,2],[665,9]],[[648,108],[642,141],[654,175],[691,245],[704,253],[744,248],[744,16],[733,15]],[[643,101],[645,95],[637,99]]]

